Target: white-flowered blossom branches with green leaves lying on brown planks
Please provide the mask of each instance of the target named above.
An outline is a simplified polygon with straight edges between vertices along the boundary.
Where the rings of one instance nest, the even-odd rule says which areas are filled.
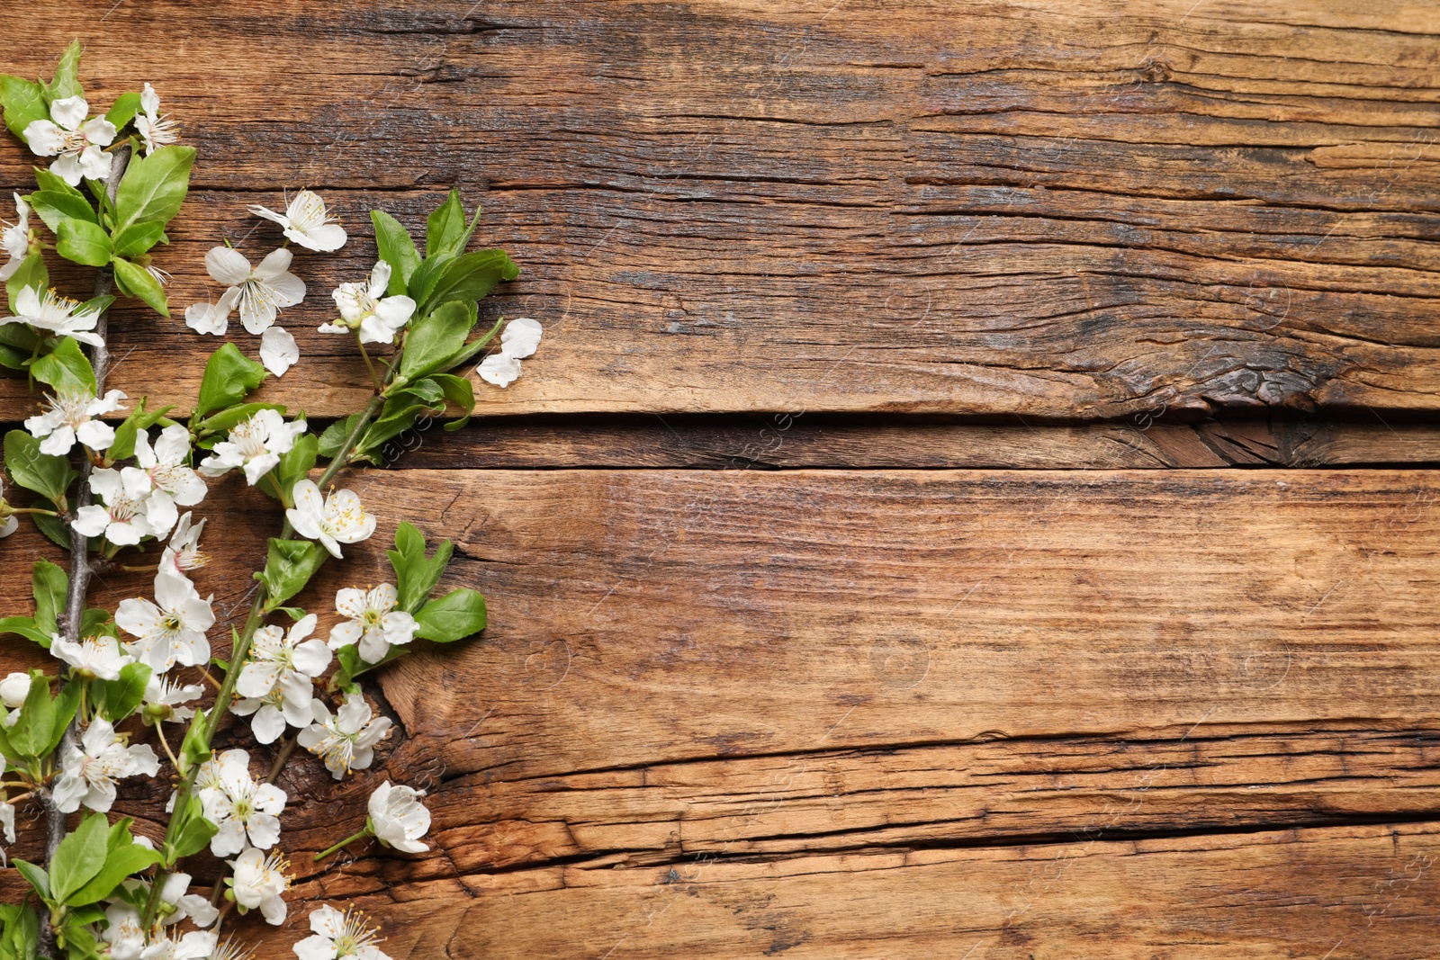
[[[370,776],[361,771],[376,764],[392,720],[366,699],[360,678],[418,640],[452,643],[485,626],[475,590],[435,596],[451,541],[426,543],[399,518],[386,551],[393,577],[341,587],[333,600],[327,593],[317,612],[298,606],[311,603],[317,571],[369,550],[363,544],[384,522],[367,510],[363,488],[334,481],[357,463],[382,462],[387,442],[420,416],[452,406],[464,423],[472,381],[451,371],[498,335],[498,348],[474,370],[505,387],[534,356],[541,327],[501,320],[472,337],[480,298],[518,268],[503,250],[467,249],[477,219],[467,222],[456,191],[429,216],[423,255],[397,220],[372,212],[377,259],[363,281],[331,292],[334,314],[317,317],[315,328],[354,340],[374,394],[361,410],[311,432],[304,415],[255,396],[266,377],[300,363],[294,335],[278,325],[281,311],[298,308],[307,294],[289,245],[334,253],[350,240],[337,213],[301,190],[284,212],[249,207],[279,226],[282,245],[256,263],[228,242],[213,246],[206,269],[223,292],[184,311],[189,328],[217,337],[229,334],[238,312],[245,331],[261,338],[259,363],[223,344],[197,394],[174,399],[187,417],[107,389],[102,358],[115,295],[81,301],[59,292],[46,252],[105,271],[118,295],[168,317],[170,275],[151,250],[184,200],[194,150],[180,142],[180,125],[150,83],[92,112],[79,60],[76,43],[48,82],[0,78],[6,127],[49,158],[36,170],[37,190],[13,194],[16,220],[0,232],[9,305],[0,367],[24,371],[43,389],[40,410],[4,436],[0,537],[29,515],[71,551],[68,569],[35,561],[32,616],[0,619],[0,632],[50,658],[50,671],[0,678],[0,858],[16,843],[24,805],[45,815],[52,838],[42,862],[14,859],[29,894],[0,904],[0,957],[243,960],[252,956],[243,944],[220,940],[226,918],[255,911],[268,924],[284,923],[298,875],[285,835],[292,805],[279,782],[292,751],[337,782]],[[40,225],[53,243],[42,240]],[[369,353],[374,347],[387,351],[380,368]],[[243,626],[217,610],[207,584],[212,554],[202,545],[209,522],[202,511],[212,488],[228,484],[255,492],[225,497],[265,495],[284,515],[255,571]],[[19,491],[36,499],[12,502]],[[141,596],[114,610],[86,604],[92,576],[134,573],[145,574]],[[240,723],[222,730],[230,715]],[[171,786],[163,836],[141,836],[130,818],[114,816],[134,779]],[[383,779],[369,790],[363,826],[314,859],[367,838],[425,853],[429,830],[425,793]],[[202,851],[225,864],[210,895],[193,892],[192,874],[181,869]],[[308,920],[310,936],[294,944],[301,960],[387,960],[363,914],[321,905]]]

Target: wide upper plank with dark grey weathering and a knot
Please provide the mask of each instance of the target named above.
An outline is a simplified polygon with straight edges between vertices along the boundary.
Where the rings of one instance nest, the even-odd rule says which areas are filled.
[[[314,415],[361,399],[314,327],[364,212],[418,226],[452,184],[526,269],[487,315],[547,327],[485,413],[1440,406],[1428,4],[122,0],[45,4],[6,63],[72,36],[96,102],[153,81],[200,148],[179,305],[222,236],[278,239],[248,203],[341,212],[271,390]],[[181,404],[176,344],[215,344],[130,309],[117,338],[117,383]]]

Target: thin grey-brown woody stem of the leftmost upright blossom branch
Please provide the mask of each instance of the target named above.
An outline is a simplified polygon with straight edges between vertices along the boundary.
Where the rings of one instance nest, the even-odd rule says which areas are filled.
[[[120,180],[125,176],[125,168],[130,166],[130,145],[121,147],[111,155],[114,160],[111,161],[109,177],[105,178],[105,196],[114,203],[115,194],[120,191]],[[114,282],[115,272],[112,268],[98,268],[95,271],[95,296],[108,296]],[[109,347],[105,345],[108,332],[109,308],[105,308],[99,311],[99,317],[95,321],[95,335],[99,337],[99,343],[91,347],[91,367],[95,368],[95,396],[104,396],[105,376],[109,373]],[[89,475],[92,468],[94,462],[91,458],[82,455],[81,482],[75,495],[76,510],[91,502]],[[69,530],[71,581],[65,596],[65,612],[60,615],[58,626],[66,640],[75,642],[79,640],[81,623],[85,617],[85,594],[89,592],[89,580],[95,571],[95,566],[89,558],[89,537],[75,530],[75,527]],[[79,721],[81,715],[76,712],[75,720],[65,730],[65,738],[60,741],[62,750],[65,744],[75,743],[75,728]],[[45,809],[45,865],[49,868],[50,861],[55,858],[55,851],[59,849],[60,842],[65,839],[65,815],[55,805],[55,797],[49,789],[40,793],[40,805]],[[49,917],[45,915],[40,917],[39,953],[45,957],[55,954],[55,928],[50,925]]]

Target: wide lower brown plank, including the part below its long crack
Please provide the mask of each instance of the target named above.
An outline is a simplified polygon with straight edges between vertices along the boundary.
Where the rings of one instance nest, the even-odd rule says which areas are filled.
[[[492,613],[370,689],[402,728],[374,771],[284,782],[302,895],[359,897],[396,957],[1428,950],[1430,472],[348,484],[386,522],[307,606],[384,576],[403,504]],[[209,535],[235,560],[202,584],[238,616],[278,518],[230,491]],[[386,776],[431,789],[436,849],[317,872]],[[163,803],[120,806],[154,832]]]

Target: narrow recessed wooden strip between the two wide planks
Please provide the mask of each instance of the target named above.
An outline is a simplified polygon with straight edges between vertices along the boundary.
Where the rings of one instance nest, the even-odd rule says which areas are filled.
[[[422,422],[402,469],[1178,469],[1440,463],[1440,427],[1316,419],[1194,425],[955,423],[766,417],[495,417],[458,432]]]

